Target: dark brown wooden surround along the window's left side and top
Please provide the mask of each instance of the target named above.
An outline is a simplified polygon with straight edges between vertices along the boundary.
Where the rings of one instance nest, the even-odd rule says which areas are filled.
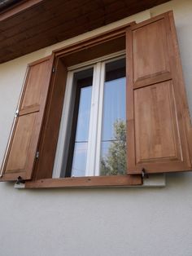
[[[47,100],[46,117],[41,131],[38,147],[39,158],[35,164],[34,179],[52,177],[68,66],[93,60],[103,55],[124,50],[124,48],[125,37],[124,27],[122,27],[103,33],[98,37],[89,38],[88,41],[78,42],[55,51],[55,75]]]

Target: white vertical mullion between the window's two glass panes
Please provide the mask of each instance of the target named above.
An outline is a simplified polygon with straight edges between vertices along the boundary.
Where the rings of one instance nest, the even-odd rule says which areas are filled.
[[[90,121],[89,121],[89,142],[87,149],[86,176],[95,175],[95,156],[97,148],[98,133],[98,108],[99,108],[99,90],[101,76],[101,62],[94,66],[93,90],[91,99]]]

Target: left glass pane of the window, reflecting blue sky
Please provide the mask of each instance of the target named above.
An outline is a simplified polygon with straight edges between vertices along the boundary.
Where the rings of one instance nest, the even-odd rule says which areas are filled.
[[[65,177],[85,176],[93,68],[74,74],[72,126]]]

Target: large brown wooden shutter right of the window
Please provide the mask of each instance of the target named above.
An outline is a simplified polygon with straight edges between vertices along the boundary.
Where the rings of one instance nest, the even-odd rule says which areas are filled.
[[[172,11],[133,25],[126,39],[128,173],[191,170],[190,120]]]

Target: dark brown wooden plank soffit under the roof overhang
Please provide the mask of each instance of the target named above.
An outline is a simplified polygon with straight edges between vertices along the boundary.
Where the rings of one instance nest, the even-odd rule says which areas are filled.
[[[42,0],[0,13],[0,63],[97,29],[168,0]],[[16,7],[15,7],[16,8]],[[18,8],[18,6],[17,6]]]

